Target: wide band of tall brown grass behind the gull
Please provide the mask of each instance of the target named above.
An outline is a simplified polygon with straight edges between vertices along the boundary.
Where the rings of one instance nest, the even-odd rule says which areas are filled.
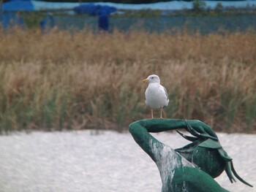
[[[167,118],[255,132],[255,45],[252,32],[1,31],[0,128],[122,131],[150,118],[141,80],[159,74]]]

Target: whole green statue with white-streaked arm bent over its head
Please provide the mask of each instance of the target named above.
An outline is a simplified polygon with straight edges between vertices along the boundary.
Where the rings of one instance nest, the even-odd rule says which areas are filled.
[[[194,137],[186,136],[178,129],[185,129]],[[178,131],[191,143],[173,150],[149,134],[169,130]],[[242,183],[252,187],[238,176],[232,158],[222,148],[211,127],[200,120],[138,120],[129,125],[129,131],[135,142],[157,164],[162,178],[162,192],[227,191],[214,180],[224,170],[231,183],[236,181],[236,177]]]

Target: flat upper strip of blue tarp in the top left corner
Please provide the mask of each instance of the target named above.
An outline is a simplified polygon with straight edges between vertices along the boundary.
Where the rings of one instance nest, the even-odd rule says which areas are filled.
[[[4,12],[33,11],[34,6],[30,0],[12,0],[3,5]]]

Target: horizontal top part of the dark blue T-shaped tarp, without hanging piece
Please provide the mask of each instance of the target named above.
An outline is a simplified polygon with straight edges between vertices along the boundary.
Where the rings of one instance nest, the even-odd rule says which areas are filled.
[[[74,7],[74,12],[77,14],[94,15],[109,15],[112,12],[116,12],[116,7],[110,7],[107,5],[95,5],[95,4],[81,4],[78,7]]]

